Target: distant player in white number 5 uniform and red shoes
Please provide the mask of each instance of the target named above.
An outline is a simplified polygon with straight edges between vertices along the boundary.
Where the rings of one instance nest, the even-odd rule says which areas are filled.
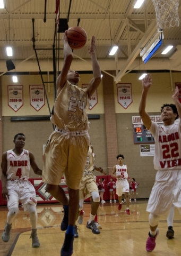
[[[123,164],[124,156],[118,155],[117,157],[118,164],[113,166],[113,171],[111,173],[111,177],[116,178],[116,194],[118,195],[118,210],[122,209],[122,194],[125,194],[126,197],[126,213],[130,215],[130,201],[129,201],[129,191],[130,186],[128,181],[130,181],[130,177],[128,177],[127,165]],[[128,181],[127,181],[128,178]]]

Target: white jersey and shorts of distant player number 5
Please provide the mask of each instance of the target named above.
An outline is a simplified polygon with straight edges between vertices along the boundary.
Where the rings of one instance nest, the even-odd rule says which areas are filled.
[[[121,178],[116,178],[116,194],[118,196],[122,196],[123,193],[129,192],[130,187],[127,181],[127,165],[123,164],[123,166],[116,165],[116,175],[120,175]]]

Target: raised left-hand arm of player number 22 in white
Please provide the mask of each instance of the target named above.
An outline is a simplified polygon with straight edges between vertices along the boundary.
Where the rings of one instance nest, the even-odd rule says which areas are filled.
[[[146,107],[146,98],[147,98],[147,94],[151,86],[151,83],[152,83],[152,78],[151,78],[151,75],[148,74],[142,80],[143,91],[142,91],[140,106],[139,106],[140,117],[147,129],[150,129],[151,119],[148,113],[146,113],[145,107]]]

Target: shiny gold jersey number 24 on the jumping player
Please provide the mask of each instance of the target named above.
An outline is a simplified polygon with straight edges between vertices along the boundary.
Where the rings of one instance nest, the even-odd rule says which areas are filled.
[[[89,97],[86,89],[70,84],[68,81],[57,95],[51,122],[69,131],[87,130]]]

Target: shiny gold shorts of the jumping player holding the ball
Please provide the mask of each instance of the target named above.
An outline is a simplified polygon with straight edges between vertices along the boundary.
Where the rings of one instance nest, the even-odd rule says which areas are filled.
[[[89,141],[89,134],[72,137],[56,131],[51,133],[44,153],[42,181],[59,185],[65,174],[67,186],[79,189],[87,161]]]

